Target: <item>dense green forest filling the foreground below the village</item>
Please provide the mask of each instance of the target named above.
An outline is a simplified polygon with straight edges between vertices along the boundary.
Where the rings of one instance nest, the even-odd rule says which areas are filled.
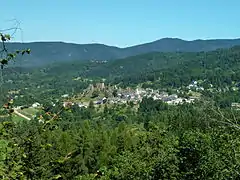
[[[0,176],[239,179],[239,111],[203,103],[144,99],[137,110],[56,106],[32,121],[10,116],[1,122]]]

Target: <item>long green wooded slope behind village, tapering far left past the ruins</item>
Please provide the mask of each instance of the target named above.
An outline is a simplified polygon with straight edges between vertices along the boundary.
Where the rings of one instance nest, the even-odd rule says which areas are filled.
[[[210,52],[147,53],[107,63],[73,61],[45,68],[48,75],[102,77],[114,83],[159,82],[163,86],[187,85],[194,79],[231,84],[240,78],[240,46]],[[64,75],[63,74],[63,75]]]

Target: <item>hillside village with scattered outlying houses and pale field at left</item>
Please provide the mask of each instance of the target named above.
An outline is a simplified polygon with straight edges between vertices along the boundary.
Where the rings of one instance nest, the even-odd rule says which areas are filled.
[[[212,84],[208,85],[208,89],[202,87],[203,81],[193,81],[185,88],[179,88],[174,90],[174,93],[168,93],[166,91],[161,91],[152,88],[142,88],[140,86],[136,88],[121,88],[117,85],[109,86],[103,82],[89,84],[81,94],[70,95],[63,94],[59,99],[63,100],[63,107],[69,107],[72,105],[78,105],[79,108],[87,108],[90,102],[94,106],[101,106],[103,104],[129,104],[138,105],[143,98],[153,98],[153,100],[161,100],[168,105],[178,105],[183,103],[194,103],[195,100],[201,98],[201,93],[203,91],[223,91],[222,89],[215,89]],[[238,90],[237,87],[232,88],[234,91]],[[20,90],[18,91],[9,91],[9,94],[15,94],[15,98],[22,98]],[[18,95],[16,95],[18,94]],[[183,96],[183,94],[185,94]],[[58,99],[58,100],[59,100]],[[58,101],[57,100],[57,101]],[[52,105],[55,104],[52,102]],[[32,105],[22,105],[14,107],[16,114],[22,116],[25,119],[30,119],[34,117],[34,114],[25,113],[23,109],[30,108],[30,111],[36,112],[37,109],[41,109],[42,105],[38,102],[33,103]],[[239,103],[232,103],[232,108],[239,109]],[[23,112],[21,114],[21,112]],[[25,116],[25,117],[24,117]]]

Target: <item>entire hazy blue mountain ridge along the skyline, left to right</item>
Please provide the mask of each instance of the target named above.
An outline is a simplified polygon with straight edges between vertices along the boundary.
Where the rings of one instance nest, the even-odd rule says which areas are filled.
[[[21,65],[39,66],[72,60],[112,60],[150,52],[199,52],[240,45],[240,39],[194,40],[164,38],[137,46],[118,48],[104,44],[72,44],[63,42],[9,43],[8,49],[31,49],[30,56],[18,59]]]

